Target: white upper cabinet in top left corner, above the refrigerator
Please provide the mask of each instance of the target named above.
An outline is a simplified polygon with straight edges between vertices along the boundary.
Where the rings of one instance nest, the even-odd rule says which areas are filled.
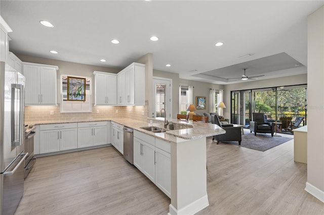
[[[9,38],[8,32],[12,32],[6,21],[0,16],[0,61],[9,63]]]

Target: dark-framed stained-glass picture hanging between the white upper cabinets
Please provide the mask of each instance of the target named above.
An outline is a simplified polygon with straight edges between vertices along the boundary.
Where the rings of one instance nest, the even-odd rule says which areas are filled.
[[[67,100],[86,101],[86,78],[67,76]]]

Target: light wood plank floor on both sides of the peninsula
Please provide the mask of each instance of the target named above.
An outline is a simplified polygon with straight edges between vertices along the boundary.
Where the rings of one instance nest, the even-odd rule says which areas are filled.
[[[282,135],[284,136],[284,135]],[[207,140],[210,206],[197,214],[324,214],[293,140],[265,152]],[[167,214],[170,199],[113,147],[40,157],[17,214]]]

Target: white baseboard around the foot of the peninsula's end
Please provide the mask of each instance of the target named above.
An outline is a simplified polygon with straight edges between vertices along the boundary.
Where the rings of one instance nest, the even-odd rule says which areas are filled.
[[[195,214],[196,212],[204,209],[209,205],[207,194],[194,202],[188,204],[187,206],[176,209],[172,204],[169,205],[168,215],[185,215],[185,214]]]

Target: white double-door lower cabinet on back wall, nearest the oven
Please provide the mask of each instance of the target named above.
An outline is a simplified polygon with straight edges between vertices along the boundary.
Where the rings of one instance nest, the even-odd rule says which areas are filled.
[[[40,126],[39,152],[49,153],[77,148],[76,123]]]

